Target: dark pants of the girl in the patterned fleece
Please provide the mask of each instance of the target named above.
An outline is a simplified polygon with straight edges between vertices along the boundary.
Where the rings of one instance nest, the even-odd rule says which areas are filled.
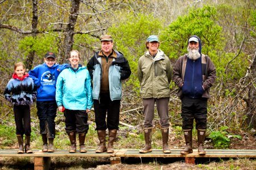
[[[30,136],[31,134],[31,119],[29,105],[14,105],[13,107],[16,134]]]

